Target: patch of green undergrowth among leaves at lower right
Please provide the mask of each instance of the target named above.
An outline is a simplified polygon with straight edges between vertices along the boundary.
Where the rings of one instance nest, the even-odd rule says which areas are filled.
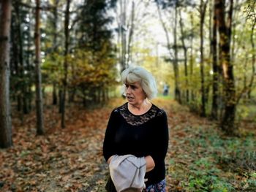
[[[192,128],[185,154],[188,168],[170,161],[185,191],[256,191],[256,140],[254,136],[220,137],[214,128]]]

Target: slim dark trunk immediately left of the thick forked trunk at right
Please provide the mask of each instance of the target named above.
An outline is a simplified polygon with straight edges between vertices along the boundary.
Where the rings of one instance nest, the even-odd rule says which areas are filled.
[[[214,6],[214,18],[212,28],[212,69],[213,69],[213,83],[212,83],[212,105],[211,105],[211,118],[218,119],[218,90],[219,90],[219,66],[217,64],[217,7]]]

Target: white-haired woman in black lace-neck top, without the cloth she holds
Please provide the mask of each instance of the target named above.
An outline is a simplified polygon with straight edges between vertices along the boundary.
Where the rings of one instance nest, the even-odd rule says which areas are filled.
[[[146,188],[165,191],[165,155],[168,147],[167,116],[149,100],[157,95],[157,85],[150,72],[129,66],[121,73],[127,102],[113,110],[103,143],[103,155],[110,164],[115,155],[145,158]],[[108,191],[116,191],[110,178]]]

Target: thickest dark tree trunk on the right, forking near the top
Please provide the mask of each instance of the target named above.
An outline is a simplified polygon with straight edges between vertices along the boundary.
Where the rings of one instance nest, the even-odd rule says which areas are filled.
[[[230,0],[230,11],[225,22],[225,0],[215,0],[218,15],[219,27],[219,55],[222,66],[224,91],[225,91],[225,111],[221,121],[222,130],[227,134],[235,134],[236,118],[236,86],[233,75],[233,64],[230,62],[230,34],[233,12],[233,0]]]

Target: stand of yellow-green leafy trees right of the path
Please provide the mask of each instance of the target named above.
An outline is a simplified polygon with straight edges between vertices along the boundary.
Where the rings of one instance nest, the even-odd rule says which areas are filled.
[[[250,31],[250,34],[253,34],[255,26],[253,22],[249,24],[248,21],[253,21],[252,18],[255,18],[252,11],[255,4],[252,1],[178,1],[178,4],[176,4],[177,1],[156,2],[162,6],[161,15],[168,15],[164,19],[160,18],[168,34],[172,32],[167,27],[170,26],[168,23],[176,23],[177,17],[181,21],[183,18],[191,20],[191,23],[180,22],[179,25],[174,25],[173,42],[166,39],[167,46],[170,47],[170,55],[174,55],[173,62],[178,62],[178,68],[181,71],[178,80],[180,85],[175,85],[181,88],[182,103],[187,104],[191,110],[200,115],[220,120],[222,129],[228,134],[234,134],[238,126],[236,120],[242,113],[241,109],[244,108],[244,102],[239,102],[239,98],[245,99],[248,93],[247,88],[254,89],[253,86],[249,87],[255,77],[253,48],[255,37],[245,36],[245,34],[241,37],[239,34],[242,34],[241,31],[243,33]],[[169,14],[176,15],[176,7],[184,12],[171,18]],[[246,10],[247,14],[243,10]],[[246,15],[250,15],[249,20],[246,20]],[[238,20],[238,17],[243,18],[244,22]],[[252,28],[245,27],[247,24]],[[176,28],[180,28],[181,33],[176,34]],[[179,39],[178,42],[176,39]],[[248,43],[246,45],[242,39],[253,39],[249,43],[251,47],[249,48]],[[190,53],[189,77],[187,66],[181,65],[181,62],[187,61],[187,53],[185,51],[182,53],[181,47],[183,50],[190,50],[188,52]],[[245,47],[252,50],[252,54],[247,57],[242,53]],[[175,56],[177,50],[178,56]],[[245,62],[239,62],[238,58],[244,58]],[[251,64],[249,68],[248,59]],[[241,73],[238,71],[241,69],[245,69],[247,77],[240,76]],[[189,84],[187,78],[189,78]],[[241,79],[244,79],[244,83]],[[189,99],[187,99],[187,91],[191,93]]]

